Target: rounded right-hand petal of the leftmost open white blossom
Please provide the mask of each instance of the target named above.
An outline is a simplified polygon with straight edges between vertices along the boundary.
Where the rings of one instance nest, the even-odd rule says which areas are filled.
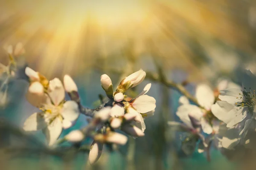
[[[79,117],[78,104],[74,101],[67,101],[64,103],[61,109],[61,115],[68,121],[74,121]]]

